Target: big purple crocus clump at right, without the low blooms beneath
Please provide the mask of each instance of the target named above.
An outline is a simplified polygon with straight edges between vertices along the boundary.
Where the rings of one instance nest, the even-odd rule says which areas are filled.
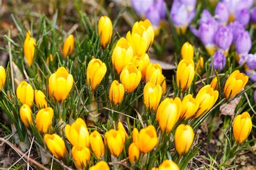
[[[219,2],[214,17],[205,9],[201,13],[198,30],[192,25],[190,29],[200,38],[210,55],[219,49],[226,56],[233,42],[238,56],[248,54],[252,40],[244,27],[250,20],[249,9],[252,5],[253,1]]]

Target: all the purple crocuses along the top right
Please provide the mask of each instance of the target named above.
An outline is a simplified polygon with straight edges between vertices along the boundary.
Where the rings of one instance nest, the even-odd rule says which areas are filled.
[[[131,0],[133,9],[140,17],[151,21],[154,29],[159,29],[160,21],[165,18],[164,0]],[[256,54],[249,54],[252,47],[250,34],[245,27],[250,22],[256,26],[256,6],[254,0],[222,0],[215,7],[214,16],[205,9],[201,13],[199,27],[190,25],[195,14],[197,0],[173,0],[170,18],[178,33],[190,30],[204,44],[208,54],[213,56],[214,69],[222,70],[226,65],[228,51],[233,44],[236,59],[245,64],[247,75],[256,82]]]

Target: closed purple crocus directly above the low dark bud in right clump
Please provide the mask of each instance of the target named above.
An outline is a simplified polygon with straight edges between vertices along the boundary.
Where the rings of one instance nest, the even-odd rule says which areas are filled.
[[[223,49],[224,52],[227,52],[232,44],[232,40],[233,33],[231,29],[227,26],[220,26],[214,37],[215,44],[220,49]]]

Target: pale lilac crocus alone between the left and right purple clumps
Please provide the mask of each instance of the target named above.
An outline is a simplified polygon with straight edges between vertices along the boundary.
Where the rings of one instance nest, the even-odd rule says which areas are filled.
[[[170,11],[170,17],[175,27],[186,29],[193,20],[196,10],[187,12],[186,6],[178,0],[174,0]]]

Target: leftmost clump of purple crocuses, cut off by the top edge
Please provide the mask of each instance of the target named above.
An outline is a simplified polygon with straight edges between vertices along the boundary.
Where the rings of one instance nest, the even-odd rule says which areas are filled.
[[[164,0],[131,0],[131,3],[140,17],[149,19],[154,30],[159,29],[161,20],[166,16]]]

